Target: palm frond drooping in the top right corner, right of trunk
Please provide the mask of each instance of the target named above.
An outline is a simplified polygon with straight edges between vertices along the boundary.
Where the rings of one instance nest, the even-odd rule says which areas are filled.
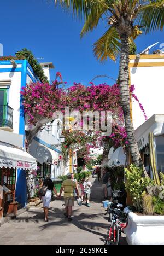
[[[164,0],[150,1],[140,8],[137,20],[143,26],[143,32],[162,30],[164,26]]]

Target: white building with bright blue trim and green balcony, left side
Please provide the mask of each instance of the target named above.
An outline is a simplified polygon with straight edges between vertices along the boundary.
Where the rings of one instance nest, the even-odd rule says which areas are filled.
[[[30,82],[36,83],[38,78],[27,60],[11,62],[10,60],[0,61],[0,129],[22,135],[22,149],[25,150],[25,118],[20,91],[22,87],[26,87],[26,84]],[[42,63],[42,66],[46,71],[45,75],[50,80],[49,69],[54,67],[53,64]],[[43,127],[44,130],[38,132],[34,137],[30,146],[30,153],[42,165],[42,174],[50,172],[52,178],[55,179],[62,174],[61,149],[60,146],[57,146],[57,144],[61,143],[57,137],[57,124],[54,121],[53,124],[49,125],[51,131],[46,129],[48,127],[46,125]],[[38,155],[41,149],[42,155]],[[48,152],[48,155],[45,156],[43,152]]]

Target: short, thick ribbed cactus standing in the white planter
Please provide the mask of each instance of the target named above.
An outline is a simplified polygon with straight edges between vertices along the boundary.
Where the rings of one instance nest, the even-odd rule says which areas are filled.
[[[152,197],[148,195],[147,193],[142,194],[142,208],[143,213],[146,215],[153,215],[153,203],[152,203]]]

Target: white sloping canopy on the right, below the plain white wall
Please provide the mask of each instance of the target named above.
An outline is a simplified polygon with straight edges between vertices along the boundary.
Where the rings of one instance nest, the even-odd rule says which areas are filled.
[[[154,136],[164,134],[164,115],[153,115],[135,130],[139,149],[144,148],[149,143],[150,132],[153,132]]]

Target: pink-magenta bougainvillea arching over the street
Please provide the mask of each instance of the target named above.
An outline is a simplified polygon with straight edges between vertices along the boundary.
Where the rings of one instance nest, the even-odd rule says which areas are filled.
[[[66,106],[68,106],[71,111],[79,110],[79,112],[83,112],[84,110],[98,112],[111,111],[113,115],[112,134],[108,136],[108,139],[110,143],[113,143],[114,147],[128,146],[118,84],[110,86],[106,83],[99,85],[90,83],[89,86],[84,86],[81,83],[74,83],[73,86],[69,87],[67,90],[62,87],[60,88],[62,84],[62,75],[60,72],[57,72],[56,80],[52,84],[39,82],[30,83],[25,88],[22,88],[22,104],[29,124],[35,125],[40,119],[52,119],[53,113],[56,110],[64,112]],[[147,120],[144,108],[134,94],[134,85],[130,87],[130,96],[139,103],[144,117]],[[81,125],[83,125],[83,120],[81,120]],[[68,133],[68,135],[66,135],[67,143],[63,145],[65,150],[68,150],[70,146],[68,141],[70,138],[72,140],[73,136],[76,143],[80,144],[81,140],[83,141],[85,137],[84,133],[82,134],[80,131],[75,133],[76,134]],[[96,143],[104,139],[99,133],[97,133],[96,136],[95,144],[94,141],[90,144],[84,139],[84,144],[87,144],[87,150],[90,146],[96,147]]]

